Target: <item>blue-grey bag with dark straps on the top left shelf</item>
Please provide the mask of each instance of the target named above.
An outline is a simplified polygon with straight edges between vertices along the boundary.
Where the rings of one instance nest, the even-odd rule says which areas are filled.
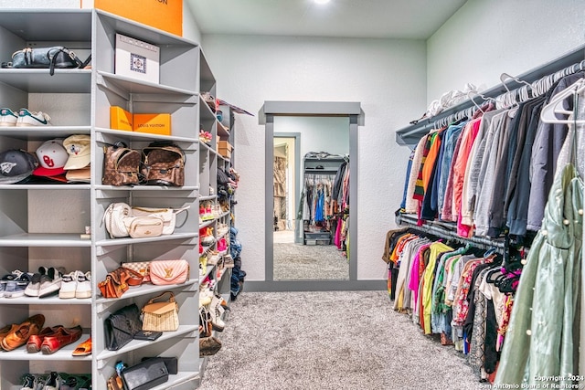
[[[69,48],[54,47],[25,47],[12,54],[12,68],[16,69],[50,69],[51,76],[55,69],[85,68],[90,63],[91,56],[81,61]]]

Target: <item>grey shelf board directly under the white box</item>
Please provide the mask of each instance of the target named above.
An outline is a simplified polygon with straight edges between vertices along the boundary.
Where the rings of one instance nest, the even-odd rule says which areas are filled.
[[[197,104],[197,92],[181,90],[175,87],[154,82],[142,81],[109,72],[98,71],[97,83],[106,90],[110,90],[125,100],[165,102],[178,104]],[[130,97],[132,95],[132,99]]]

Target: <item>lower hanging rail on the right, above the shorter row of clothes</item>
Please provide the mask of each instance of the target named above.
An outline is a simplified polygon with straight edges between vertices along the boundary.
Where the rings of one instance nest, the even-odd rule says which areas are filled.
[[[417,224],[417,217],[408,214],[397,214],[396,224],[399,226],[408,226],[420,232],[429,233],[433,236],[442,237],[457,241],[461,244],[470,244],[476,248],[495,249],[495,252],[505,254],[504,238],[486,238],[486,237],[461,237],[457,235],[452,224],[440,221],[426,221],[424,225]]]

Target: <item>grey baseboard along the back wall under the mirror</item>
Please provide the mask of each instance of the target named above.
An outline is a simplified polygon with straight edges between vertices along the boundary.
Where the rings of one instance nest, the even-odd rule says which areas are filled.
[[[246,281],[241,292],[386,290],[386,280]]]

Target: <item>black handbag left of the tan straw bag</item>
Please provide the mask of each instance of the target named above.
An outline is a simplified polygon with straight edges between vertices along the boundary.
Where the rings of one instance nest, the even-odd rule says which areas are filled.
[[[105,346],[110,351],[118,351],[133,340],[134,334],[143,327],[140,310],[135,303],[114,311],[103,321]]]

